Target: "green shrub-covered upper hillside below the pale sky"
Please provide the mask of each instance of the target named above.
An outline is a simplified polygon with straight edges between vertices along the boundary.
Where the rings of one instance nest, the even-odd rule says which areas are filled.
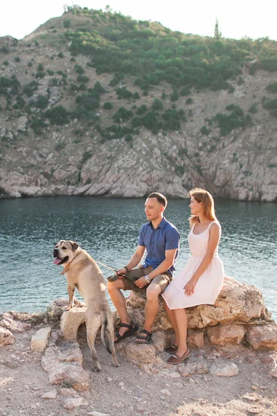
[[[277,42],[267,38],[253,41],[224,39],[220,34],[213,38],[186,35],[157,22],[87,8],[51,19],[26,37],[26,42],[30,49],[35,42],[37,47],[50,46],[59,52],[53,53],[48,62],[37,63],[37,59],[30,58],[26,73],[31,73],[33,80],[25,85],[15,74],[0,76],[0,98],[6,99],[4,105],[10,116],[15,112],[17,116],[26,114],[36,134],[41,134],[47,123],[62,125],[77,118],[94,126],[103,140],[125,137],[132,141],[141,126],[166,135],[179,130],[191,116],[192,92],[223,89],[232,93],[232,83],[244,83],[245,66],[251,75],[258,69],[277,70]],[[2,63],[6,67],[11,51],[12,46],[0,49],[7,55]],[[74,78],[57,69],[66,53],[71,54]],[[80,54],[87,57],[84,65],[75,63]],[[12,59],[19,62],[21,58]],[[55,70],[51,61],[55,61]],[[103,74],[110,74],[109,89],[99,80],[91,85],[91,69],[96,69],[99,80]],[[44,77],[49,78],[48,96],[36,94]],[[52,87],[60,90],[61,98],[64,94],[71,96],[67,105],[62,100],[49,105]],[[275,89],[276,83],[269,85],[270,94]],[[186,97],[185,106],[175,104],[180,97]],[[0,105],[3,108],[3,100]],[[250,113],[255,112],[255,105]],[[276,100],[271,96],[265,97],[262,105],[276,116]],[[104,114],[100,115],[100,108]],[[207,119],[202,134],[208,135],[208,126],[219,126],[221,134],[226,135],[233,128],[252,124],[251,114],[244,114],[238,105],[227,110],[231,112]]]

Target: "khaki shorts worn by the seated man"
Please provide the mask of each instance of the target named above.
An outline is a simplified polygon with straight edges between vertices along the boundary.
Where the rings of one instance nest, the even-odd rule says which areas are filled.
[[[140,289],[138,286],[136,286],[135,281],[140,279],[140,277],[143,277],[145,275],[148,275],[150,272],[152,272],[153,268],[152,266],[148,266],[146,268],[136,268],[132,269],[129,272],[126,273],[126,277],[123,277],[123,285],[125,291],[143,291],[150,286],[152,283],[157,283],[159,286],[161,286],[161,293],[165,290],[166,286],[170,283],[172,280],[172,277],[168,272],[163,273],[162,275],[158,275],[152,279],[152,282],[145,286],[144,288]]]

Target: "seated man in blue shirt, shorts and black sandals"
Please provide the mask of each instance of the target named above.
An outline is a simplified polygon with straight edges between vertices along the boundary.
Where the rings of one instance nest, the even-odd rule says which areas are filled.
[[[146,288],[145,323],[136,343],[149,344],[152,325],[159,310],[159,295],[165,290],[175,272],[175,261],[179,250],[180,235],[177,228],[163,217],[168,201],[161,193],[151,193],[145,201],[148,223],[141,227],[139,245],[127,266],[118,270],[118,279],[108,281],[107,289],[118,315],[120,328],[115,343],[132,335],[138,327],[127,315],[125,297],[121,292],[139,291]],[[139,265],[147,251],[143,266]],[[123,277],[123,274],[125,277]]]

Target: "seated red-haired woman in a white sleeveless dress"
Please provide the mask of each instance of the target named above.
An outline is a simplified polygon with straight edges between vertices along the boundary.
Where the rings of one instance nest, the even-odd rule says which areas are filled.
[[[186,308],[214,304],[224,279],[223,263],[217,254],[221,227],[215,216],[213,197],[200,188],[192,189],[188,196],[191,212],[188,244],[192,255],[162,293],[168,318],[175,330],[175,340],[166,349],[166,352],[174,353],[168,358],[170,364],[179,364],[190,354],[186,344]]]

